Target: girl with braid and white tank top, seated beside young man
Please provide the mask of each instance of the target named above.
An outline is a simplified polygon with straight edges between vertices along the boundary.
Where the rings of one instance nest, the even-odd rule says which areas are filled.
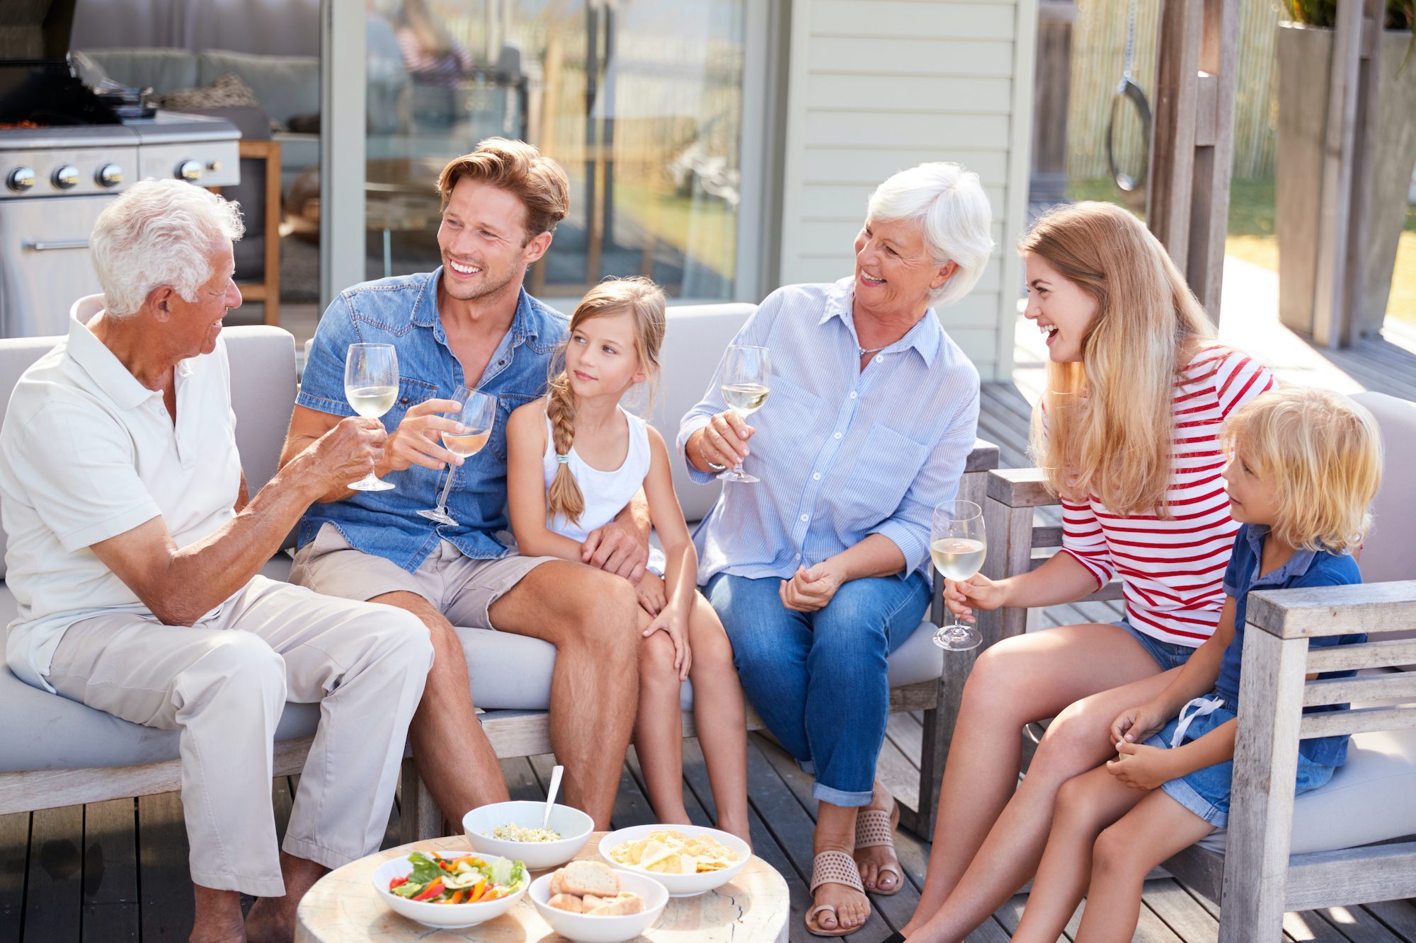
[[[664,293],[643,278],[600,282],[575,314],[545,399],[507,423],[507,497],[523,554],[579,562],[586,535],[644,488],[664,545],[663,578],[639,588],[643,646],[634,745],[658,821],[688,824],[678,690],[694,682],[694,716],[718,827],[748,841],[748,756],[732,646],[695,585],[698,554],[674,494],[668,449],[620,405],[658,368]],[[651,561],[651,568],[654,561]]]

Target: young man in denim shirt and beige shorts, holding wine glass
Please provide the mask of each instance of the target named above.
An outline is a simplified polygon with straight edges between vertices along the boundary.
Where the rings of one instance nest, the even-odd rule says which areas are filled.
[[[521,287],[569,208],[555,161],[523,142],[490,137],[450,161],[438,181],[442,268],[344,290],[314,334],[282,462],[354,411],[344,357],[354,341],[392,344],[399,389],[384,416],[379,476],[396,487],[354,491],[341,481],[300,524],[290,579],[321,593],[406,609],[432,631],[436,664],[409,728],[418,769],[453,821],[507,799],[497,756],[477,726],[462,641],[453,626],[497,629],[555,644],[551,743],[565,765],[565,799],[609,825],[637,701],[639,603],[629,579],[649,559],[647,508],[590,534],[589,566],[521,556],[507,520],[507,416],[545,394],[566,319]],[[466,384],[497,396],[491,439],[462,459],[439,445],[459,432],[439,415]],[[449,467],[450,466],[450,467]],[[432,508],[443,470],[456,524]],[[353,480],[353,479],[350,479]],[[640,503],[641,498],[640,498]]]

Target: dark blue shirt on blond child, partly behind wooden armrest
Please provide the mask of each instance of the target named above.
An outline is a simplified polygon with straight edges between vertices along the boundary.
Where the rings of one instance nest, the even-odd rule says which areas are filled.
[[[1239,711],[1239,668],[1243,660],[1243,629],[1245,610],[1247,609],[1249,593],[1255,589],[1291,589],[1294,586],[1345,586],[1362,582],[1362,573],[1357,568],[1357,561],[1351,554],[1330,554],[1327,551],[1314,552],[1306,549],[1293,551],[1283,566],[1270,573],[1259,575],[1259,562],[1263,559],[1263,541],[1269,535],[1266,524],[1245,524],[1235,535],[1233,554],[1229,556],[1229,569],[1225,571],[1225,592],[1235,598],[1235,637],[1225,648],[1223,661],[1219,664],[1219,680],[1215,681],[1215,694],[1225,699],[1225,704]],[[1351,636],[1323,636],[1310,639],[1310,648],[1327,646],[1352,644],[1366,641],[1366,634]],[[1349,678],[1355,671],[1328,671],[1323,678]],[[1304,714],[1324,714],[1328,711],[1345,711],[1345,704],[1318,704],[1303,708]],[[1347,762],[1345,733],[1338,736],[1318,736],[1298,741],[1298,752],[1314,763],[1324,766],[1341,766]]]

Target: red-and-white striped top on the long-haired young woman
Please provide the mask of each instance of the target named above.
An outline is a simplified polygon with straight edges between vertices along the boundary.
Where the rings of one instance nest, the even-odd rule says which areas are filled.
[[[1221,582],[1239,524],[1229,517],[1219,426],[1277,385],[1262,364],[1225,347],[1206,347],[1175,384],[1175,469],[1170,514],[1113,514],[1096,496],[1062,501],[1062,549],[1104,585],[1120,575],[1126,617],[1138,631],[1198,647],[1223,609]]]

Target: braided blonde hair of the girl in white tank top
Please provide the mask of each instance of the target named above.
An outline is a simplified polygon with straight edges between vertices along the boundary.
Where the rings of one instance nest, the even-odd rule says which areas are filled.
[[[658,378],[658,348],[664,343],[664,289],[643,276],[606,279],[581,299],[571,314],[566,338],[551,360],[549,394],[545,404],[547,419],[551,421],[551,439],[556,455],[569,455],[575,442],[575,392],[565,370],[565,350],[571,337],[586,321],[629,312],[634,316],[634,353],[650,377],[650,402],[653,385]],[[571,471],[561,462],[545,491],[545,515],[548,521],[564,515],[571,524],[579,524],[585,513],[585,496]]]

